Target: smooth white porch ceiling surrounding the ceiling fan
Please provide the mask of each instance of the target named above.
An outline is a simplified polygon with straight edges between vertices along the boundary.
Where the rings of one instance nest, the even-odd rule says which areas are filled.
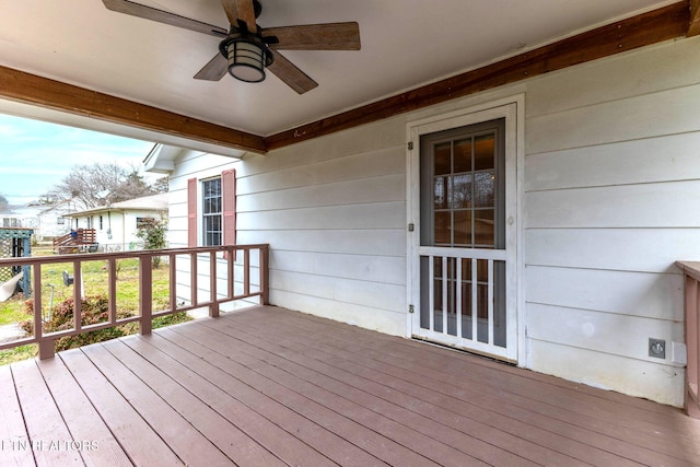
[[[138,0],[228,28],[219,0]],[[273,135],[615,20],[658,0],[260,0],[264,27],[357,21],[359,51],[283,51],[318,82],[192,79],[215,37],[101,0],[0,0],[0,65],[258,136]],[[23,113],[0,104],[0,112]],[[32,112],[40,118],[42,112]],[[60,115],[60,114],[58,114]],[[47,119],[62,119],[56,113]],[[71,124],[66,116],[63,122]],[[91,124],[82,126],[90,126]],[[94,128],[103,129],[95,122]],[[133,136],[143,137],[138,132]]]

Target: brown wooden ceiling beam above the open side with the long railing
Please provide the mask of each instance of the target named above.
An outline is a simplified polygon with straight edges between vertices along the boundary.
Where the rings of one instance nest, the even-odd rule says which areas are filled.
[[[266,152],[256,135],[0,66],[0,97],[236,150]]]

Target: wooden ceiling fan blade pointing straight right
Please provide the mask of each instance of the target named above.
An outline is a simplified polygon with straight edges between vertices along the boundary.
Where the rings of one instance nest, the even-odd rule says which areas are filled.
[[[266,27],[262,37],[277,37],[279,50],[360,50],[358,23]]]

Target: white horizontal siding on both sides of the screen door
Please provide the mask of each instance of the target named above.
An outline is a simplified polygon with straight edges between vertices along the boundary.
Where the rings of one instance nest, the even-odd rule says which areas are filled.
[[[405,335],[406,122],[525,94],[520,363],[682,404],[678,259],[700,258],[700,38],[573,67],[242,162],[189,153],[172,177],[236,168],[238,243],[270,243],[271,302]]]

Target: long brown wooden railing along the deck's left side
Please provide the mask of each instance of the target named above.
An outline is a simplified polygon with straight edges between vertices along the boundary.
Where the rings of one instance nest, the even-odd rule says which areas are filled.
[[[118,267],[120,259],[138,259],[139,311],[135,316],[117,317]],[[153,258],[161,258],[168,268],[170,305],[166,310],[153,310]],[[95,325],[82,324],[81,302],[83,296],[81,265],[86,261],[104,261],[107,273],[108,319]],[[185,261],[188,267],[178,270],[178,264]],[[95,253],[78,255],[56,255],[33,258],[0,259],[0,267],[30,266],[32,270],[33,328],[34,335],[11,342],[0,343],[0,350],[28,343],[37,343],[39,358],[54,355],[55,341],[61,337],[105,329],[128,323],[139,323],[141,334],[150,334],[152,320],[159,316],[187,312],[196,308],[209,308],[209,316],[219,316],[220,305],[244,299],[259,297],[259,303],[268,304],[268,262],[269,245],[226,245],[199,248],[168,248],[127,253]],[[45,266],[72,264],[73,287],[73,326],[71,329],[44,332],[42,271]],[[55,266],[55,267],[56,267]],[[202,270],[205,269],[206,270]],[[257,272],[257,275],[256,275]],[[208,283],[198,287],[202,277]],[[189,289],[188,296],[177,295],[177,287]],[[202,290],[205,295],[202,296]],[[208,292],[207,292],[208,291]],[[179,302],[178,302],[179,300]]]

